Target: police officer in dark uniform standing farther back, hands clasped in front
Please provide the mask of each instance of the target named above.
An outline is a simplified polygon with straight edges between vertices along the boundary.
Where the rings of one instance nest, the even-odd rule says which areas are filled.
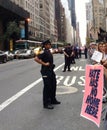
[[[70,65],[71,65],[72,48],[70,44],[68,44],[67,47],[65,47],[65,49],[63,50],[63,53],[65,56],[65,65],[64,65],[63,72],[65,72],[67,68],[68,68],[68,71],[71,71]]]

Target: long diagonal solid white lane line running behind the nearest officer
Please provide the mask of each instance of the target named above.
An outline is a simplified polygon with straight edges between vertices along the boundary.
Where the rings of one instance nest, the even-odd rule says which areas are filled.
[[[60,67],[62,67],[64,65],[61,64],[58,67],[55,68],[55,71],[57,71]],[[12,102],[14,102],[16,99],[18,99],[19,97],[21,97],[24,93],[26,93],[28,90],[30,90],[31,88],[35,87],[35,85],[37,85],[38,83],[40,83],[42,81],[42,78],[36,80],[35,82],[31,83],[30,85],[28,85],[27,87],[25,87],[24,89],[22,89],[21,91],[19,91],[18,93],[16,93],[15,95],[13,95],[11,98],[7,99],[6,101],[4,101],[2,104],[0,104],[0,111],[2,111],[4,108],[6,108],[8,105],[10,105]]]

